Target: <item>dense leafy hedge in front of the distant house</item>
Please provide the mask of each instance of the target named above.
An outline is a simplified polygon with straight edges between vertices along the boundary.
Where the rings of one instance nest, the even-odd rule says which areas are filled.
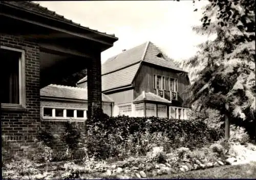
[[[156,146],[196,148],[220,138],[202,120],[108,117],[101,110],[95,112],[97,117],[87,121],[86,144],[89,154],[98,158],[146,155]]]

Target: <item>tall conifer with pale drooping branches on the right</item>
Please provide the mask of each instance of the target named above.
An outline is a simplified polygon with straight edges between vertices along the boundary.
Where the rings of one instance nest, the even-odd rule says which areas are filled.
[[[229,138],[230,120],[254,120],[254,5],[255,0],[209,0],[202,25],[194,30],[217,38],[200,44],[200,52],[184,63],[201,66],[194,74],[190,103],[199,110],[219,110],[225,117],[225,139]]]

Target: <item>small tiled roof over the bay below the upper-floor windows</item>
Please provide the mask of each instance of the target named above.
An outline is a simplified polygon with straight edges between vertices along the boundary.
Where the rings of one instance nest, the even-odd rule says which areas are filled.
[[[148,101],[155,101],[155,102],[164,102],[164,103],[172,103],[172,101],[167,100],[161,96],[158,96],[152,92],[145,92],[143,91],[136,99],[134,99],[134,102],[139,102],[143,100],[148,100]]]

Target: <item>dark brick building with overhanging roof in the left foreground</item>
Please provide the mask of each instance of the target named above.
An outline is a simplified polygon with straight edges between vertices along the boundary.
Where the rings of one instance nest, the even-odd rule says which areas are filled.
[[[117,37],[82,27],[32,2],[1,2],[2,142],[13,155],[33,143],[40,88],[88,69],[88,112],[101,107],[100,53]],[[3,147],[3,145],[2,145]]]

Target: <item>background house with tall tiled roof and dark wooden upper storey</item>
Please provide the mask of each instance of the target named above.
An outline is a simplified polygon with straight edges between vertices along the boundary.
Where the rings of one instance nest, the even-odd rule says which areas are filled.
[[[113,115],[187,118],[187,72],[152,42],[108,59],[101,74],[102,93],[115,103]],[[87,76],[77,86],[87,88]]]

